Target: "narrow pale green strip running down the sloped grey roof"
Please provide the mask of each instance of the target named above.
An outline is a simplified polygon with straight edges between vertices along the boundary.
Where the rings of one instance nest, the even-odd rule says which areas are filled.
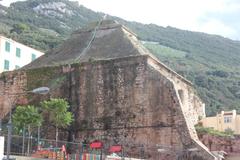
[[[107,17],[107,14],[105,14],[101,20],[98,21],[96,27],[94,28],[94,31],[92,33],[92,37],[90,39],[90,41],[88,42],[88,45],[83,49],[83,51],[79,54],[79,56],[75,59],[75,62],[78,62],[81,59],[82,55],[85,55],[87,53],[87,51],[89,50],[89,48],[91,47],[92,42],[94,41],[95,37],[96,37],[96,33],[97,30],[99,28],[99,26],[101,25],[102,21],[105,20]]]

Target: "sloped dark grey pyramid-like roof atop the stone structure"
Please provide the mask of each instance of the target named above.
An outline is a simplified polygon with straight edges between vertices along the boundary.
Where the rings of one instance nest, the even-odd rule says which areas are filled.
[[[150,54],[136,35],[112,20],[75,31],[60,47],[38,58],[25,69]]]

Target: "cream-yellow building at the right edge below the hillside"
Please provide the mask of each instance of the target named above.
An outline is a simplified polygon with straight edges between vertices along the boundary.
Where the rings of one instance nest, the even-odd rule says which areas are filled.
[[[215,117],[206,117],[200,122],[203,127],[212,127],[222,132],[231,129],[234,134],[240,134],[240,115],[237,115],[236,110],[222,111]]]

